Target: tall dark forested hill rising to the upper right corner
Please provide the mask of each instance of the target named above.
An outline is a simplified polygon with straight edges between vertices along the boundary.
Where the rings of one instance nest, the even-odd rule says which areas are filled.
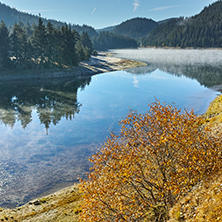
[[[190,18],[160,24],[143,40],[144,46],[222,47],[222,1]]]

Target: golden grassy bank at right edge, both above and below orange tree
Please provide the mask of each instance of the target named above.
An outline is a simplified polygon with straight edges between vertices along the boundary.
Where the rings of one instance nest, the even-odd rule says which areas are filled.
[[[221,132],[222,95],[211,102],[204,116],[207,127],[212,127],[216,135]],[[222,169],[208,180],[202,181],[184,199],[180,200],[171,209],[169,221],[222,221]]]

